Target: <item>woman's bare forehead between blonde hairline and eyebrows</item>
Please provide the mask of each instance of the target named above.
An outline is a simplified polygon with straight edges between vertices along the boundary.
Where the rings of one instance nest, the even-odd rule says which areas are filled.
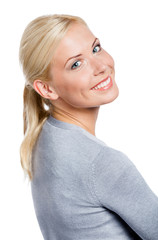
[[[82,54],[94,41],[94,34],[82,23],[75,23],[60,41],[54,54],[54,63],[63,63],[68,58]]]

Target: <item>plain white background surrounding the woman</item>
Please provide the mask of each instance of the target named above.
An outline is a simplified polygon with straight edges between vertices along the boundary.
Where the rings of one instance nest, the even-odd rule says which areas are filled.
[[[123,151],[158,195],[158,7],[155,0],[27,0],[0,6],[1,239],[42,240],[30,185],[24,181],[24,78],[18,48],[26,25],[44,14],[78,15],[115,60],[120,95],[101,106],[96,136]]]

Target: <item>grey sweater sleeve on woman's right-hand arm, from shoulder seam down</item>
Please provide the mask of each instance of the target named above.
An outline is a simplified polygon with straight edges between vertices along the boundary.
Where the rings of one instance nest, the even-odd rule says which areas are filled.
[[[158,198],[122,152],[105,147],[92,163],[100,204],[118,214],[142,239],[158,240]]]

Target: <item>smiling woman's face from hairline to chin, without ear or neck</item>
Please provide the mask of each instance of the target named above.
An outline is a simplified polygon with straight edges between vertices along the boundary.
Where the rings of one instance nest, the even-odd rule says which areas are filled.
[[[50,72],[58,99],[73,107],[97,107],[118,96],[114,60],[83,24],[73,24],[61,40]],[[101,81],[105,86],[94,89]]]

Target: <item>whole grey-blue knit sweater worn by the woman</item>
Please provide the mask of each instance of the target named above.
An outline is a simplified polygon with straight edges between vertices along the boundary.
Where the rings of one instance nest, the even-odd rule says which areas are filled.
[[[45,240],[158,240],[158,198],[124,153],[50,116],[32,160]]]

